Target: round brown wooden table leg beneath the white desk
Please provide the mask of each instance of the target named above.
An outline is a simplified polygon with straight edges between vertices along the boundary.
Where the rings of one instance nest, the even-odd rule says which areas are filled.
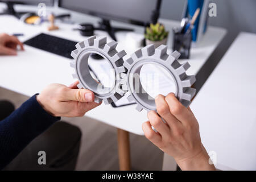
[[[120,171],[130,170],[130,141],[129,132],[117,129],[118,155]]]

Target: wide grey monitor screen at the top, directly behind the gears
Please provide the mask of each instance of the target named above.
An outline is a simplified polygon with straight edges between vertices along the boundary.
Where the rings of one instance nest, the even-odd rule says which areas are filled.
[[[146,24],[152,20],[159,0],[60,0],[59,6],[103,19]]]

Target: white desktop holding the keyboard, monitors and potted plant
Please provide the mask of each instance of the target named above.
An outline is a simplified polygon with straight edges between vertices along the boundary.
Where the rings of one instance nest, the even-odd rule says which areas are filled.
[[[96,18],[92,18],[92,16],[85,15],[84,22],[93,21],[92,23],[96,23],[97,20]],[[164,23],[167,30],[170,30],[168,45],[171,47],[171,28],[179,26],[179,22],[166,19],[160,19],[160,22]],[[24,36],[19,38],[22,41],[40,32],[47,32],[47,34],[75,40],[77,42],[85,39],[79,32],[72,31],[72,27],[74,26],[71,24],[57,23],[60,30],[48,32],[46,30],[48,24],[30,26],[19,22],[16,18],[9,15],[1,15],[0,24],[2,25],[0,32],[7,32],[9,34],[24,33]],[[129,26],[134,28],[136,32],[143,32],[143,28],[139,26],[118,22],[113,22],[113,24],[115,26],[118,24],[119,26]],[[199,71],[226,34],[226,30],[223,28],[208,28],[209,30],[204,36],[203,41],[198,44],[197,47],[191,49],[191,58],[188,60],[189,64],[191,64],[191,68],[187,71],[188,75],[196,74]],[[106,33],[96,31],[96,35],[106,35]],[[129,47],[125,45],[125,42],[122,42],[125,37],[125,32],[119,32],[116,36],[119,43],[117,49],[120,50],[121,48]],[[109,36],[108,40],[111,40]],[[75,81],[71,76],[73,70],[69,67],[69,59],[29,46],[24,46],[24,48],[26,51],[18,52],[18,56],[0,57],[0,86],[3,88],[13,90],[26,96],[32,96],[35,93],[40,93],[46,85],[53,82],[69,85]],[[184,61],[187,60],[180,62],[183,63]],[[130,131],[131,133],[143,135],[141,125],[143,122],[147,121],[146,112],[142,111],[139,113],[135,110],[135,107],[135,105],[130,105],[113,108],[111,105],[102,104],[96,109],[86,113],[86,116],[98,119],[114,127]]]

